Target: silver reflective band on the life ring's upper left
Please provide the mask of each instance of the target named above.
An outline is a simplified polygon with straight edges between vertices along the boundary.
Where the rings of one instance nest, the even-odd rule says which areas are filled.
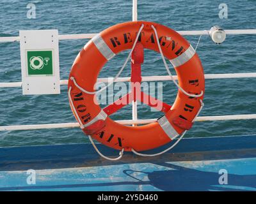
[[[98,48],[100,53],[109,61],[111,58],[115,57],[115,53],[108,47],[105,41],[98,34],[92,38],[94,45]]]

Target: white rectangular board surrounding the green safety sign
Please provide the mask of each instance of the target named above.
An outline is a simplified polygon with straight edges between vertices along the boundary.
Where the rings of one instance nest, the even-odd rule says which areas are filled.
[[[20,31],[19,35],[22,94],[60,94],[58,30]],[[52,51],[52,58],[48,59],[48,61],[52,59],[52,73],[47,75],[29,74],[31,61],[28,62],[28,51]],[[35,57],[37,60],[38,57]]]

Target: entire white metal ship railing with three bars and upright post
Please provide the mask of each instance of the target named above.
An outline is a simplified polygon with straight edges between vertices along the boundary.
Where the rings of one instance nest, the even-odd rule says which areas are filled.
[[[132,0],[132,21],[138,20],[137,13],[137,0]],[[196,36],[196,35],[209,35],[209,31],[177,31],[183,36]],[[239,30],[225,30],[226,34],[256,34],[256,29],[239,29]],[[59,40],[75,40],[75,39],[90,39],[97,33],[87,34],[61,34],[58,36]],[[15,42],[19,41],[19,36],[12,37],[0,37],[1,42]],[[217,79],[217,78],[255,78],[256,73],[226,73],[226,74],[208,74],[205,75],[205,79]],[[177,76],[173,76],[177,80]],[[120,77],[116,79],[116,82],[129,82],[130,77]],[[166,81],[170,80],[170,76],[150,76],[142,77],[142,81]],[[99,78],[97,82],[109,82],[109,78]],[[60,80],[61,85],[67,85],[68,80]],[[7,87],[21,87],[22,82],[2,82],[0,88]],[[157,119],[137,119],[137,105],[132,103],[132,120],[116,120],[120,124],[136,125],[136,124],[148,124],[156,122]],[[213,121],[213,120],[248,120],[256,119],[256,114],[247,115],[218,115],[218,116],[203,116],[197,117],[195,121]],[[59,124],[32,124],[32,125],[17,125],[17,126],[0,126],[0,131],[13,131],[13,130],[29,130],[29,129],[51,129],[51,128],[77,128],[79,124],[77,122],[59,123]]]

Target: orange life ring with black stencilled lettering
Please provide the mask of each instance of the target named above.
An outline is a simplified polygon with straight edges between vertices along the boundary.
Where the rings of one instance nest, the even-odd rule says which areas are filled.
[[[200,110],[200,98],[186,96],[179,90],[177,98],[165,115],[144,126],[124,126],[111,120],[93,101],[93,94],[86,94],[74,84],[93,92],[100,69],[123,50],[131,49],[140,29],[139,40],[143,47],[159,52],[154,25],[164,56],[172,62],[179,85],[188,93],[200,94],[205,89],[204,70],[195,50],[188,41],[172,29],[154,22],[125,22],[102,31],[90,40],[79,52],[68,80],[70,106],[84,133],[98,142],[118,150],[136,151],[160,147],[191,128],[192,121]],[[73,108],[74,107],[74,108]]]

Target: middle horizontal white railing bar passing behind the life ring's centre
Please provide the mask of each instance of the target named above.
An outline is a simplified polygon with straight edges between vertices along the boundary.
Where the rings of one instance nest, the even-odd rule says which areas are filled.
[[[208,74],[204,75],[205,79],[221,79],[221,78],[255,78],[256,73],[227,73],[227,74]],[[178,79],[176,75],[173,75],[175,80]],[[129,82],[130,77],[120,77],[116,78],[115,82]],[[170,76],[148,76],[142,77],[143,82],[154,82],[154,81],[169,81]],[[97,82],[111,82],[111,78],[99,78]],[[60,85],[67,85],[68,80],[60,80]],[[22,82],[2,82],[0,83],[0,88],[10,88],[10,87],[21,87]]]

